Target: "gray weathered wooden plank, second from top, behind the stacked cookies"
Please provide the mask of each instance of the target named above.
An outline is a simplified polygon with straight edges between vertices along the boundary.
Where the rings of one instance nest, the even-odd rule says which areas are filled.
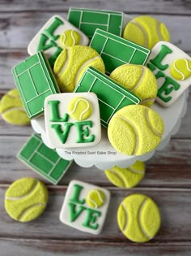
[[[2,29],[0,30],[0,48],[24,48],[26,49],[32,37],[40,30],[49,18],[59,14],[66,17],[62,12],[24,12],[24,13],[0,13]],[[134,17],[135,15],[133,15]],[[171,41],[181,50],[191,51],[191,37],[189,16],[154,15],[167,25],[171,33]],[[18,36],[19,35],[19,36]]]

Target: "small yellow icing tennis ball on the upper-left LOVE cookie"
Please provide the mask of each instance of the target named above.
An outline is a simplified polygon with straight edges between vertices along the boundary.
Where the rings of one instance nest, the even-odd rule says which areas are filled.
[[[79,45],[81,37],[74,29],[69,29],[63,32],[60,36],[60,44],[62,48]]]

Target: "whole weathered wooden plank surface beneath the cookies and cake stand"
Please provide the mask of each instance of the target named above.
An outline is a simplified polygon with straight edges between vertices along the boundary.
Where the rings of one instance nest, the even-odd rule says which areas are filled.
[[[28,42],[51,15],[66,17],[69,7],[124,11],[126,14],[154,15],[167,24],[172,43],[191,54],[191,1],[155,0],[0,0],[0,95],[15,87],[11,67],[28,56]],[[3,198],[12,181],[23,176],[39,176],[16,154],[27,141],[32,128],[16,127],[0,119],[0,255],[178,255],[191,254],[191,95],[180,131],[169,145],[146,162],[146,177],[130,190],[114,188],[96,167],[73,164],[59,185],[49,187],[49,206],[32,223],[16,223],[4,210]],[[41,178],[40,178],[41,179]],[[99,236],[79,232],[60,223],[59,211],[67,184],[79,179],[103,186],[112,193],[108,218]],[[43,179],[41,179],[43,180]],[[117,228],[116,212],[130,193],[145,193],[155,199],[162,214],[162,227],[155,239],[136,244],[125,239]]]

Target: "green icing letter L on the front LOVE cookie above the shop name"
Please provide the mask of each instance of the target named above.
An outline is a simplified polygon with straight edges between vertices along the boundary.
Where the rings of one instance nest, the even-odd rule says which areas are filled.
[[[69,115],[65,114],[63,118],[59,115],[58,105],[60,101],[49,101],[48,102],[51,111],[51,118],[49,119],[50,122],[67,122],[69,119]]]

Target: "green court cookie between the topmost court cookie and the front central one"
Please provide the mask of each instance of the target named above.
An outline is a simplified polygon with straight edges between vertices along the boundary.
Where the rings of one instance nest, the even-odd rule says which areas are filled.
[[[150,50],[145,47],[99,28],[96,29],[90,46],[104,60],[107,74],[110,74],[114,69],[126,63],[144,65],[150,54]]]

